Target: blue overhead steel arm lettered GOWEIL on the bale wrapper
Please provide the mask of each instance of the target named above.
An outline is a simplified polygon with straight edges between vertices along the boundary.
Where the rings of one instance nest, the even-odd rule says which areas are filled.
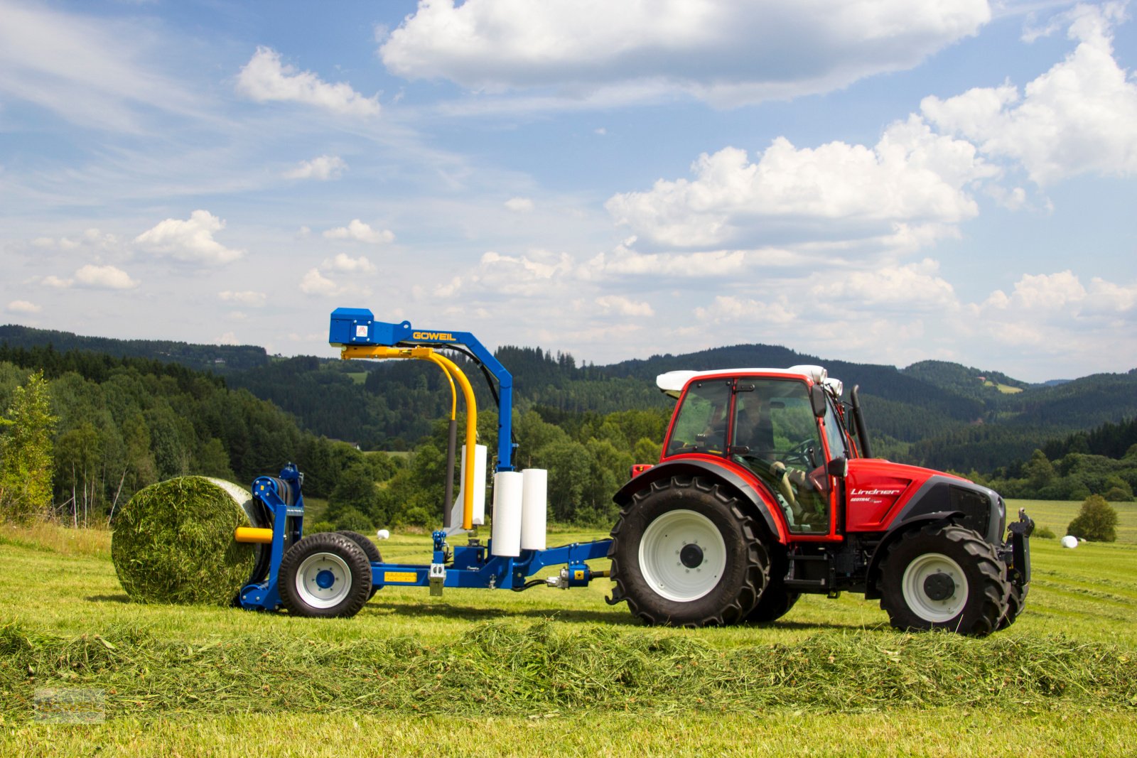
[[[470,332],[416,330],[410,322],[376,322],[367,308],[337,308],[332,311],[327,342],[333,347],[380,345],[385,348],[424,345],[446,349],[464,347],[498,383],[498,463],[495,470],[512,472],[513,466],[513,375]]]

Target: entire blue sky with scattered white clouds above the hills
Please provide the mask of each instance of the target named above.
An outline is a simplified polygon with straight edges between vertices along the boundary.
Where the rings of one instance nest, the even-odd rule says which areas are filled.
[[[0,0],[0,320],[1137,366],[1123,2]]]

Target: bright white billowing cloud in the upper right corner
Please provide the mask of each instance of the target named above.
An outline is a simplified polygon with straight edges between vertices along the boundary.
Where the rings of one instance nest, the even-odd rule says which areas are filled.
[[[1078,6],[1064,18],[1077,48],[1023,88],[978,88],[922,113],[984,153],[1020,163],[1038,184],[1084,173],[1137,174],[1137,82],[1113,57],[1121,3]]]

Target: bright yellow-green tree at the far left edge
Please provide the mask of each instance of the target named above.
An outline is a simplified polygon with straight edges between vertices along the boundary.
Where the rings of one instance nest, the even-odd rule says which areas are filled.
[[[20,524],[50,514],[56,420],[43,372],[35,372],[16,388],[0,418],[0,523]]]

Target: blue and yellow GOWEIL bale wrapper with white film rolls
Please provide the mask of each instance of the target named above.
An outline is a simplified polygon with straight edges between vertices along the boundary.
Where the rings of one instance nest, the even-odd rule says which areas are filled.
[[[249,609],[275,610],[283,606],[300,616],[354,616],[381,588],[425,586],[433,595],[443,588],[481,588],[521,591],[546,585],[562,589],[587,586],[607,576],[594,570],[589,560],[605,558],[612,540],[546,547],[547,474],[543,469],[516,470],[512,431],[513,377],[471,333],[418,330],[410,322],[375,320],[371,310],[338,308],[332,313],[329,342],[340,348],[345,360],[409,359],[438,366],[451,391],[447,472],[458,459],[458,393],[464,399],[466,423],[462,445],[459,491],[455,499],[453,475],[446,482],[443,525],[435,531],[429,564],[392,564],[379,549],[354,532],[317,533],[305,538],[304,475],[291,464],[279,477],[263,476],[252,484],[272,528],[238,531],[239,542],[262,543],[269,556],[267,576],[246,585],[238,602]],[[473,388],[462,368],[440,351],[457,352],[473,360],[490,384],[498,409],[497,456],[493,466],[493,518],[490,539],[473,536],[484,524],[485,460],[488,449],[478,444],[478,406]],[[451,505],[453,503],[453,505]],[[471,535],[466,544],[449,540]],[[538,573],[561,566],[543,580]]]

